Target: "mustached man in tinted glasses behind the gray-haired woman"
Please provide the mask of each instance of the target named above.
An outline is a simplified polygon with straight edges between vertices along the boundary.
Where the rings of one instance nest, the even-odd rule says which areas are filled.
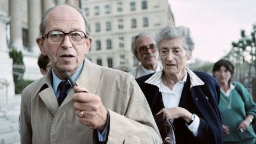
[[[161,71],[162,65],[158,62],[158,50],[153,36],[149,33],[139,33],[132,41],[132,52],[141,65],[130,71],[135,78]]]

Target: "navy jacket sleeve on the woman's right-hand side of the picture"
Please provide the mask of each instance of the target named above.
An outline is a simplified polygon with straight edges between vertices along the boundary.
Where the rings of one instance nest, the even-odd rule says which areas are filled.
[[[220,97],[220,88],[215,78],[206,76],[204,85],[191,89],[192,95],[198,97],[194,102],[202,115],[196,140],[197,143],[218,144],[222,143],[222,121],[216,101]]]

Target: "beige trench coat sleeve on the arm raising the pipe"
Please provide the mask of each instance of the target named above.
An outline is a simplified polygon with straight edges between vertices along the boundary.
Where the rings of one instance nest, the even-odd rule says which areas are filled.
[[[162,143],[155,120],[135,79],[128,75],[123,87],[124,115],[109,110],[107,143]]]

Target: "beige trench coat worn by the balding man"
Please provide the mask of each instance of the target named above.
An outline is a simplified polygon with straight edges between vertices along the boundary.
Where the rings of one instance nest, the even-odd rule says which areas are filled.
[[[21,97],[21,144],[93,143],[93,130],[79,123],[69,92],[58,105],[52,71],[28,85]],[[161,143],[149,105],[132,75],[85,59],[79,87],[101,97],[110,113],[107,143]]]

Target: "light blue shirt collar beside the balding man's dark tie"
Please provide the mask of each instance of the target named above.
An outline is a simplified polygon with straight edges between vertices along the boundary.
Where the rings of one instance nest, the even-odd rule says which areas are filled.
[[[84,67],[84,62],[82,62],[82,65],[80,65],[78,70],[71,76],[71,79],[74,82],[76,81],[76,79],[78,79],[80,73],[82,72],[83,67]],[[60,82],[62,82],[62,80],[57,77],[53,69],[52,69],[52,75],[53,75],[53,90],[55,91],[55,94],[57,94],[57,87],[59,86]]]

